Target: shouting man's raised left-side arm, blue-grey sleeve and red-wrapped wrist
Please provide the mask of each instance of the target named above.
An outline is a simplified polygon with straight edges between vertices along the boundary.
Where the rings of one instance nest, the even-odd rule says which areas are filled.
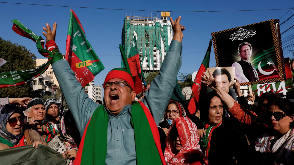
[[[56,23],[54,23],[52,31],[49,24],[46,24],[46,28],[43,28],[43,30],[47,32],[47,34],[43,32],[47,41],[46,48],[56,49],[57,46],[54,41]],[[60,52],[54,54],[51,64],[66,104],[74,116],[82,137],[86,124],[99,104],[92,101],[85,93],[84,88],[77,81],[74,71],[70,68],[68,62],[63,60]]]

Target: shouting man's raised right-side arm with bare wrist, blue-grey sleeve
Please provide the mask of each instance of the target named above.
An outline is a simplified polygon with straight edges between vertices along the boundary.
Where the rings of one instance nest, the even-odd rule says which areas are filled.
[[[160,67],[159,75],[151,82],[150,89],[146,92],[142,102],[149,108],[155,123],[159,121],[168,105],[171,94],[175,88],[175,80],[182,65],[182,39],[185,28],[180,25],[181,16],[175,21],[171,20],[174,37],[169,50]]]

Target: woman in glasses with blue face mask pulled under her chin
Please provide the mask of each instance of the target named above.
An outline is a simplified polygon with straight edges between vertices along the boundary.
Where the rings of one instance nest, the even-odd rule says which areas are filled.
[[[172,120],[178,117],[186,117],[185,109],[180,102],[171,100],[168,102],[164,116],[162,116],[159,123],[159,127],[164,130],[165,135],[168,134],[168,129],[172,123]]]

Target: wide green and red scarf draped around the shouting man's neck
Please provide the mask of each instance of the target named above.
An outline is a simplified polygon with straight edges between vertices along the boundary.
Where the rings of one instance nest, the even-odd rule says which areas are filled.
[[[105,164],[108,121],[104,105],[99,106],[85,128],[75,165]],[[149,109],[141,101],[134,101],[130,123],[134,128],[137,164],[147,165],[152,162],[165,165],[156,123]],[[96,141],[99,141],[99,148],[95,145]],[[146,161],[146,158],[149,161]]]

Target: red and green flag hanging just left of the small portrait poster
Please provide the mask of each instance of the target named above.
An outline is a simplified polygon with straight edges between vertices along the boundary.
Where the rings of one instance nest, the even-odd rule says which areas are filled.
[[[191,115],[196,112],[196,105],[197,105],[197,102],[199,101],[201,85],[202,85],[201,84],[201,79],[202,79],[201,75],[203,75],[202,72],[203,71],[205,72],[206,68],[209,67],[209,57],[210,57],[210,52],[211,52],[211,44],[212,44],[212,41],[210,39],[209,46],[208,46],[207,51],[205,53],[204,59],[203,59],[202,64],[196,74],[196,77],[194,79],[194,83],[191,88],[192,89],[192,96],[191,96],[191,99],[190,99],[189,105],[188,105],[188,110]],[[205,92],[206,92],[206,85],[205,85]]]

